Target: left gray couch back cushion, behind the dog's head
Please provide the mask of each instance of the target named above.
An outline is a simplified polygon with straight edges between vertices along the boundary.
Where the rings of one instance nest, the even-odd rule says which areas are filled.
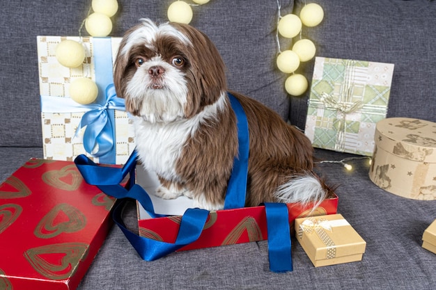
[[[119,2],[111,36],[122,36],[142,17],[168,21],[166,8],[173,0]],[[0,146],[42,146],[36,35],[78,35],[89,3],[3,3]],[[293,0],[281,0],[281,5],[289,12]],[[283,89],[284,76],[274,67],[277,1],[210,1],[193,10],[191,24],[209,35],[224,57],[228,87],[259,99],[287,118],[289,99]]]

